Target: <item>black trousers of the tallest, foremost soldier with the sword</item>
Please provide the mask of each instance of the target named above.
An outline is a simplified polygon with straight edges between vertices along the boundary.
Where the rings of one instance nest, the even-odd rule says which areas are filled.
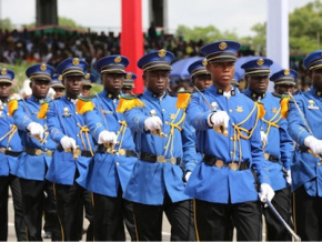
[[[194,200],[195,228],[200,241],[231,241],[232,224],[238,241],[262,240],[260,202],[235,204],[211,203]]]

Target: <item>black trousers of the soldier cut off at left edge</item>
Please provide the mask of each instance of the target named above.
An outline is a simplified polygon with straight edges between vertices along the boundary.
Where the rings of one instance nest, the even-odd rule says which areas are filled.
[[[26,241],[26,225],[22,212],[22,194],[19,178],[16,175],[0,177],[0,241],[8,238],[8,195],[11,189],[14,210],[14,230],[18,241]]]

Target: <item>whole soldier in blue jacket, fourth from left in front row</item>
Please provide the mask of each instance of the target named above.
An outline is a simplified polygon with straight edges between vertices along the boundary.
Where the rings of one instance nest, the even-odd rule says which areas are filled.
[[[115,112],[128,64],[123,56],[98,60],[94,68],[101,73],[104,90],[92,100],[95,110],[83,110],[98,149],[87,175],[78,182],[93,192],[94,238],[99,241],[125,240],[123,219],[131,239],[137,240],[132,204],[122,195],[138,158],[131,130],[123,114]],[[83,109],[81,101],[78,103],[80,110]],[[104,143],[117,141],[111,150],[104,147]]]

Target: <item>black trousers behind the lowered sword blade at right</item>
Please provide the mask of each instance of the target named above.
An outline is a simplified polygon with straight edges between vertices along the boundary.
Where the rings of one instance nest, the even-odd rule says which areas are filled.
[[[293,228],[292,224],[292,205],[291,205],[291,191],[290,188],[275,191],[275,195],[272,200],[273,206],[285,220],[285,222]],[[264,209],[264,216],[268,229],[268,241],[292,241],[292,236],[285,226],[276,219],[270,208]]]

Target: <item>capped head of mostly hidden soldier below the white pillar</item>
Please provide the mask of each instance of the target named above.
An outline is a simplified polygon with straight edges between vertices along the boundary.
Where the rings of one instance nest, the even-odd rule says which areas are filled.
[[[274,82],[274,92],[272,93],[276,98],[282,95],[292,94],[296,87],[298,72],[292,69],[282,69],[270,77],[270,80]]]

